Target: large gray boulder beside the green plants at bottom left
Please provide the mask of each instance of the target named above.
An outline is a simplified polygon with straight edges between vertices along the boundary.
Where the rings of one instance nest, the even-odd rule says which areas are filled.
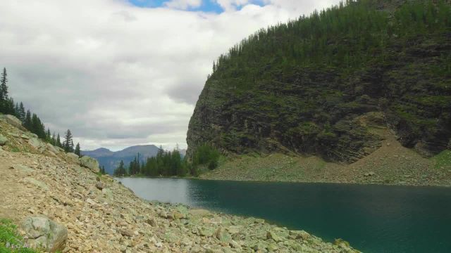
[[[27,245],[42,247],[48,252],[64,249],[68,239],[66,227],[45,217],[30,217],[22,223]]]

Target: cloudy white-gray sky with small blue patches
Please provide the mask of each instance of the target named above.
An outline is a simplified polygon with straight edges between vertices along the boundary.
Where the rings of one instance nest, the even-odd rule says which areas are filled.
[[[1,0],[10,93],[82,149],[186,148],[213,61],[335,0]]]

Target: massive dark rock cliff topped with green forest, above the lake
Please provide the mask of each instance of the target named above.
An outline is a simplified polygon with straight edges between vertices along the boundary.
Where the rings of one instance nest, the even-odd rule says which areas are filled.
[[[268,27],[219,57],[187,133],[188,154],[294,152],[354,162],[371,125],[433,155],[451,145],[447,1],[347,1]]]

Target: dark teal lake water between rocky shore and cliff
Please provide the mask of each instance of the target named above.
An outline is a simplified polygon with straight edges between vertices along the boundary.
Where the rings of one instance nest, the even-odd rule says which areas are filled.
[[[363,252],[451,252],[451,188],[118,180],[146,200],[259,217]]]

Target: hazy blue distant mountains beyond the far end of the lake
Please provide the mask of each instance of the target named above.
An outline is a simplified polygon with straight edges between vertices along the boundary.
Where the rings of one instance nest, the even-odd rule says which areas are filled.
[[[140,153],[140,160],[144,162],[147,157],[154,157],[156,153],[158,153],[158,150],[159,148],[156,147],[156,145],[135,145],[116,152],[106,148],[82,151],[82,155],[96,158],[99,161],[100,166],[105,167],[106,173],[113,174],[114,169],[116,169],[121,160],[128,165],[128,163],[134,160],[137,154]]]

